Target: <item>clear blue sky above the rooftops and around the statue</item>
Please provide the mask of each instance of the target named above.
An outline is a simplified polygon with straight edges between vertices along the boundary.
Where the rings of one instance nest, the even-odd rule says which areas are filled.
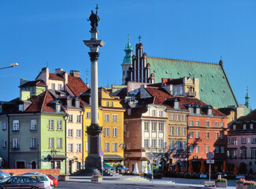
[[[85,81],[90,71],[90,39],[87,18],[98,3],[100,49],[99,86],[121,83],[124,46],[131,33],[135,48],[142,36],[148,56],[173,57],[217,63],[224,69],[239,103],[247,86],[256,107],[256,1],[95,1],[2,0],[0,1],[1,100],[19,95],[20,78],[35,80],[47,62],[50,72],[80,70]],[[89,76],[90,77],[90,76]]]

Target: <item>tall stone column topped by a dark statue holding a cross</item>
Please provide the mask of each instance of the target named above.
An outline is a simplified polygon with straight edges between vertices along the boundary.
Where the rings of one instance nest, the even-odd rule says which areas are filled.
[[[97,8],[98,9],[98,6]],[[98,125],[98,50],[104,46],[102,40],[98,40],[98,15],[91,10],[91,39],[84,40],[83,43],[90,48],[88,53],[91,58],[91,125],[87,127],[88,136],[88,156],[85,161],[85,169],[89,169],[91,174],[97,174],[102,169],[99,152],[101,150],[102,127]]]

